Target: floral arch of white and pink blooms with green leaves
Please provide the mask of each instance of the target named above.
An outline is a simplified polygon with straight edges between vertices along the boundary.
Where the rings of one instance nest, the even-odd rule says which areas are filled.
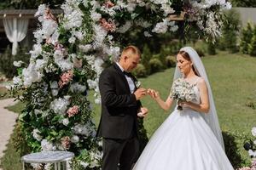
[[[23,132],[32,151],[70,150],[75,169],[99,169],[101,141],[88,90],[95,90],[100,103],[98,77],[104,60],[120,54],[119,37],[134,26],[145,37],[177,31],[175,17],[185,14],[186,26],[195,26],[214,41],[221,34],[224,0],[66,0],[63,14],[55,18],[46,5],[35,14],[41,26],[29,65],[17,62],[13,92],[26,102],[20,114]],[[182,11],[183,10],[183,11]]]

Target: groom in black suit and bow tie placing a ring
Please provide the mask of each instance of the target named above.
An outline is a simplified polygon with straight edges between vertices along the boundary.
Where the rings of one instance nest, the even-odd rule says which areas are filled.
[[[97,136],[103,138],[102,170],[117,170],[118,164],[119,170],[131,170],[137,161],[137,116],[148,113],[139,101],[147,94],[146,89],[137,88],[137,80],[130,73],[140,57],[137,47],[128,46],[119,62],[102,71],[99,80],[102,116],[97,131]]]

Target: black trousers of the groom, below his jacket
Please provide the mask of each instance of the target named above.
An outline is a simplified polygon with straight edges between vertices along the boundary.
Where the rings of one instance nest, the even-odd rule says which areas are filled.
[[[103,138],[102,170],[131,170],[137,161],[139,143],[137,137],[131,139]]]

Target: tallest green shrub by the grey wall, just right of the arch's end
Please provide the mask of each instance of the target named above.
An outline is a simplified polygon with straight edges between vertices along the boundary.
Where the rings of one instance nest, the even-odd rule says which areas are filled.
[[[222,28],[222,37],[218,39],[218,47],[222,50],[227,49],[231,53],[236,53],[238,35],[241,28],[240,14],[236,9],[226,10],[224,12],[224,26]]]

